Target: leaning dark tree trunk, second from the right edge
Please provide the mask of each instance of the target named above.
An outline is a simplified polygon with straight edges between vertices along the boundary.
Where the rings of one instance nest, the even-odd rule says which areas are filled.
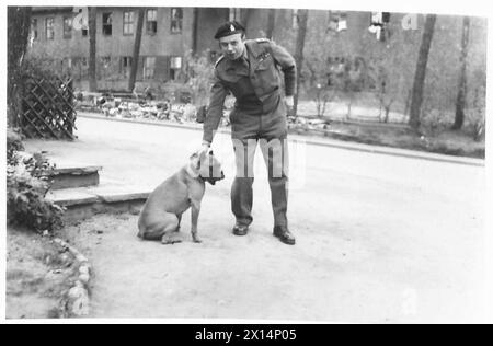
[[[432,46],[433,33],[435,31],[436,14],[427,14],[423,38],[421,39],[420,54],[417,56],[416,72],[414,73],[414,83],[412,89],[411,111],[409,124],[414,130],[420,127],[421,106],[423,104],[423,88],[426,77],[426,65],[428,64],[428,54]]]

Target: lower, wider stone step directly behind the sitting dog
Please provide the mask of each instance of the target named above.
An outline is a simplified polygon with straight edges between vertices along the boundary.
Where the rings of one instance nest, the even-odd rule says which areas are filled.
[[[50,191],[46,198],[66,208],[66,220],[80,220],[100,212],[138,214],[151,188],[104,183],[99,186]]]

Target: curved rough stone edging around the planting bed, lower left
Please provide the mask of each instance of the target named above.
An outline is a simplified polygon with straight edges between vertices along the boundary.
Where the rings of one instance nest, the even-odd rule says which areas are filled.
[[[64,250],[68,250],[79,262],[79,277],[69,289],[67,297],[61,301],[61,308],[66,314],[65,318],[87,316],[90,310],[89,281],[91,280],[91,264],[80,251],[69,245],[66,241],[55,238],[53,242]]]

